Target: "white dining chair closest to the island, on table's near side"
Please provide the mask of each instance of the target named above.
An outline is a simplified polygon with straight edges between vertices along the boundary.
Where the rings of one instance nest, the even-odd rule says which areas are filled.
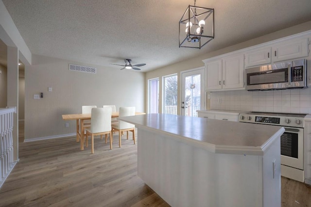
[[[119,109],[119,117],[127,117],[127,116],[135,116],[135,107],[120,107]],[[136,144],[135,140],[135,125],[118,120],[117,123],[113,123],[111,125],[113,132],[119,132],[119,147],[121,147],[121,135],[126,131],[126,139],[128,139],[128,132],[132,132],[134,144]]]

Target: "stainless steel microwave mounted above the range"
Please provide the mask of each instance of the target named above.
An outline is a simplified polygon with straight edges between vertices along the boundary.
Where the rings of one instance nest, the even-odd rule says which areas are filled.
[[[245,69],[246,90],[275,90],[307,87],[306,59]]]

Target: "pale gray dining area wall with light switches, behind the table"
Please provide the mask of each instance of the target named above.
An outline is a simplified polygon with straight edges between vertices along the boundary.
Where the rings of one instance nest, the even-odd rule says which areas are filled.
[[[69,64],[94,67],[97,73],[71,71]],[[25,66],[25,139],[75,133],[76,121],[65,128],[62,114],[81,113],[82,105],[136,106],[144,112],[144,80],[141,72],[33,55],[32,65]],[[35,100],[40,92],[44,98]]]

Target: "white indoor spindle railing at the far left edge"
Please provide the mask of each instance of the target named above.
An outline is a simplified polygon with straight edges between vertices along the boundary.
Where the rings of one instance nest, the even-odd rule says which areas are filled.
[[[0,187],[14,167],[13,113],[15,113],[15,108],[0,109]]]

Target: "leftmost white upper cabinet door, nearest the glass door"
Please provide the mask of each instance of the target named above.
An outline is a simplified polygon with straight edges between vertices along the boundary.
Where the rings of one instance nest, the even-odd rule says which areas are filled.
[[[205,64],[205,89],[217,90],[222,89],[223,71],[222,59],[208,62]]]

